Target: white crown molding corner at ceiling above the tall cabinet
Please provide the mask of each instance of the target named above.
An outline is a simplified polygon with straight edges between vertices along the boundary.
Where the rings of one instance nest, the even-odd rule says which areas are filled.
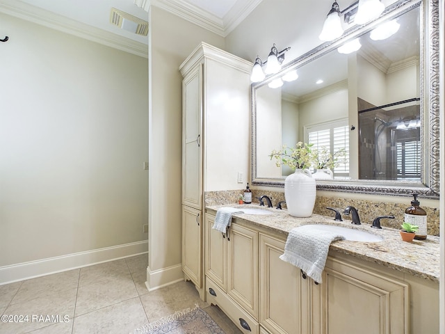
[[[181,0],[134,0],[137,6],[148,11],[149,6],[156,6],[175,14],[188,22],[201,26],[217,35],[226,37],[262,0],[238,0],[223,18]]]

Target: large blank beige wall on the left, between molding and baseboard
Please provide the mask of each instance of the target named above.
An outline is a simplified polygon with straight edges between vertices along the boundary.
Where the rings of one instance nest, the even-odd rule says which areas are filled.
[[[0,22],[0,269],[147,239],[147,59]]]

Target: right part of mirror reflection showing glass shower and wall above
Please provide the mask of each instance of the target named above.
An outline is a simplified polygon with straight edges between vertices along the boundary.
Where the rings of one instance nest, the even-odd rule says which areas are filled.
[[[380,27],[360,38],[359,179],[421,181],[419,13],[384,22],[385,39]]]

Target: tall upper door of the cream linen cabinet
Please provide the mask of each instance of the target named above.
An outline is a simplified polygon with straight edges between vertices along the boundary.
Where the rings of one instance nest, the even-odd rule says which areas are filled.
[[[182,204],[202,208],[202,67],[182,81]]]

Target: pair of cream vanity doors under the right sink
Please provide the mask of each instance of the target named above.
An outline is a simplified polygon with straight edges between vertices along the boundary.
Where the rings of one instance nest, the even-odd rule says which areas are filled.
[[[328,257],[323,283],[280,260],[284,239],[260,234],[260,324],[264,333],[410,333],[408,285]]]

